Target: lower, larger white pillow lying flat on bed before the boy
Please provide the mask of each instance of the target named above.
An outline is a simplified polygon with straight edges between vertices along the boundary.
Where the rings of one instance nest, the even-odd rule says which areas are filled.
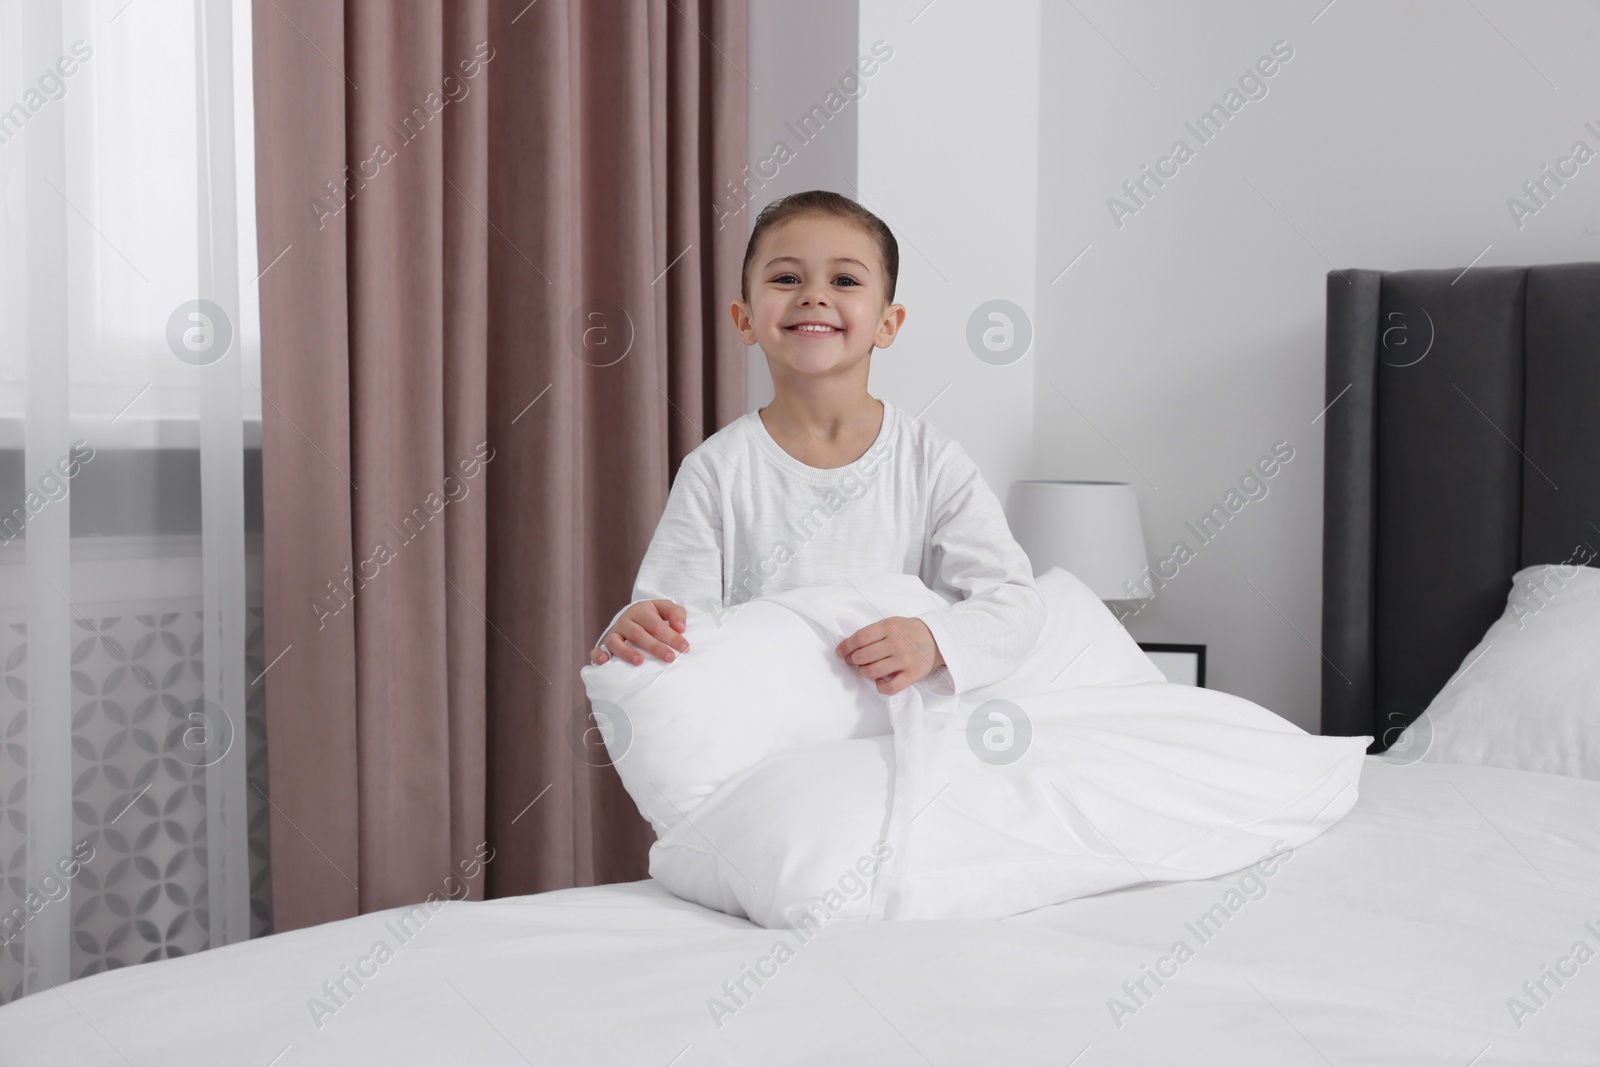
[[[774,752],[659,835],[650,873],[762,926],[998,918],[1299,846],[1355,803],[1370,737],[1315,737],[1248,701],[1166,685],[1061,569],[1045,633],[960,697],[885,697],[893,737]],[[822,605],[811,609],[826,617]],[[974,741],[1003,721],[1018,749]]]

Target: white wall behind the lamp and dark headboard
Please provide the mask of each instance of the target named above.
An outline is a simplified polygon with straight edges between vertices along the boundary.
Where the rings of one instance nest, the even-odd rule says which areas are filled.
[[[1600,150],[1600,8],[1325,3],[1045,5],[1038,146],[1034,477],[1136,483],[1155,561],[1290,442],[1269,496],[1128,625],[1208,645],[1210,685],[1309,729],[1330,264],[1464,267],[1486,245],[1480,264],[1600,259],[1600,160],[1522,229],[1506,206],[1574,141]],[[1278,40],[1294,58],[1267,96],[1118,229],[1107,198],[1174,139],[1197,146],[1184,122]]]

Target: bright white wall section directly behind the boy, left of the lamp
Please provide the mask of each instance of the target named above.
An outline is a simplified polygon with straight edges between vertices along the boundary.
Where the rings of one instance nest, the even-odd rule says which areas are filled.
[[[872,357],[870,390],[926,408],[1002,501],[1032,477],[1038,346],[994,365],[966,334],[987,301],[1034,317],[1038,22],[1038,0],[862,0],[858,38],[894,53],[861,104],[856,184],[899,242],[907,312]]]

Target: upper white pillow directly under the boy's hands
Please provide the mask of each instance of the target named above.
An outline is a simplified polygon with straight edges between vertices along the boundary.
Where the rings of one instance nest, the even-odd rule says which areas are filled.
[[[690,651],[579,670],[622,787],[656,837],[766,757],[893,733],[886,699],[834,653],[848,633],[949,603],[915,574],[870,574],[720,611],[690,609]]]

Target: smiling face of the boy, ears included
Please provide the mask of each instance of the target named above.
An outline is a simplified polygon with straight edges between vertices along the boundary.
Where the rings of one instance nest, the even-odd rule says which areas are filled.
[[[885,299],[885,285],[877,242],[866,230],[829,214],[795,216],[762,237],[750,261],[750,302],[733,302],[733,326],[746,344],[762,346],[774,381],[784,370],[848,371],[872,349],[890,347],[906,320],[906,309]]]

